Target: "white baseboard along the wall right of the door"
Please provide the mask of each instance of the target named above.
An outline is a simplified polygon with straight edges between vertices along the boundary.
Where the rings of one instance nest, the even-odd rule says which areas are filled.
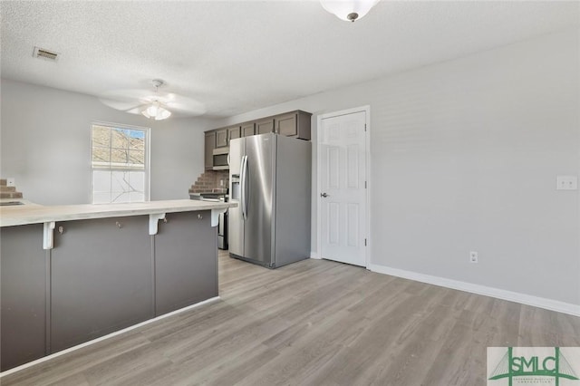
[[[499,288],[488,287],[486,285],[474,285],[472,283],[446,279],[440,276],[423,275],[418,274],[416,272],[391,268],[384,265],[371,264],[368,266],[368,269],[372,272],[376,272],[379,274],[402,277],[405,279],[415,280],[417,282],[427,283],[430,285],[439,285],[442,287],[452,288],[459,291],[465,291],[472,294],[483,294],[486,296],[496,297],[502,300],[508,300],[510,302],[516,302],[519,304],[527,304],[533,305],[535,307],[545,308],[546,310],[556,311],[558,313],[580,316],[580,304],[560,302],[558,300],[547,299],[545,297],[538,297],[530,294],[521,294],[517,292],[502,290]]]

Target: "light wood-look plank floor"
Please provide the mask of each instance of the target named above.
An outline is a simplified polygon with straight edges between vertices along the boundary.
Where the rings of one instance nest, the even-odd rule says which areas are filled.
[[[580,318],[324,260],[220,253],[221,299],[8,385],[485,385],[488,346],[580,346]]]

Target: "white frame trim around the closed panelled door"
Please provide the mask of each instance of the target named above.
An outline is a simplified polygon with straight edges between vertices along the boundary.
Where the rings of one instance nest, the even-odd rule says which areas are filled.
[[[365,159],[366,159],[366,164],[364,166],[364,172],[366,173],[366,203],[365,203],[365,207],[364,207],[364,213],[366,215],[366,224],[365,227],[366,229],[364,230],[365,232],[365,238],[366,238],[366,248],[364,249],[364,261],[365,261],[365,267],[368,269],[369,265],[371,264],[370,261],[370,256],[371,256],[371,245],[372,245],[372,240],[371,240],[371,211],[370,211],[370,207],[371,207],[371,140],[370,140],[370,133],[371,133],[371,106],[366,105],[366,106],[361,106],[361,107],[355,107],[353,109],[347,109],[347,110],[341,110],[341,111],[333,111],[333,112],[327,112],[325,114],[320,114],[317,117],[317,121],[316,121],[316,192],[314,194],[314,198],[316,199],[316,250],[317,250],[317,256],[318,258],[322,258],[321,254],[320,254],[320,247],[321,247],[321,243],[322,243],[322,229],[321,229],[321,221],[320,221],[320,217],[321,217],[321,212],[322,209],[320,207],[320,192],[322,191],[322,187],[321,187],[321,181],[320,181],[320,176],[321,176],[321,163],[322,163],[322,159],[321,159],[321,151],[320,151],[320,136],[322,135],[322,130],[320,130],[320,128],[322,127],[322,120],[326,119],[326,118],[332,118],[332,117],[338,117],[340,115],[347,115],[347,114],[352,114],[354,112],[362,112],[364,111],[364,117],[365,117],[365,127],[366,130],[364,131],[364,142],[365,142]]]

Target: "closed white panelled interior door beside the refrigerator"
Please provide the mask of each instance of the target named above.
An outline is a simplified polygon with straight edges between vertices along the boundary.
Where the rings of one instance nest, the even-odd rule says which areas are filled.
[[[328,114],[318,126],[320,256],[362,266],[367,235],[366,114]]]

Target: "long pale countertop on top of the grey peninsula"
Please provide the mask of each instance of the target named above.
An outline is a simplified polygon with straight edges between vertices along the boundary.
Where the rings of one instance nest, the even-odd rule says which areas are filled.
[[[18,201],[17,199],[10,201]],[[231,202],[208,202],[191,199],[136,202],[131,204],[84,204],[43,206],[30,202],[12,207],[0,207],[0,227],[42,224],[52,221],[89,218],[140,216],[160,213],[192,212],[236,207]]]

